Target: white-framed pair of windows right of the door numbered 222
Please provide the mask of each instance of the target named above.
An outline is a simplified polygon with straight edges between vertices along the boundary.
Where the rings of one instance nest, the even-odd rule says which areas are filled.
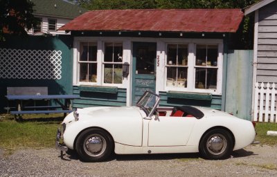
[[[221,94],[220,48],[220,44],[167,44],[166,90]]]

